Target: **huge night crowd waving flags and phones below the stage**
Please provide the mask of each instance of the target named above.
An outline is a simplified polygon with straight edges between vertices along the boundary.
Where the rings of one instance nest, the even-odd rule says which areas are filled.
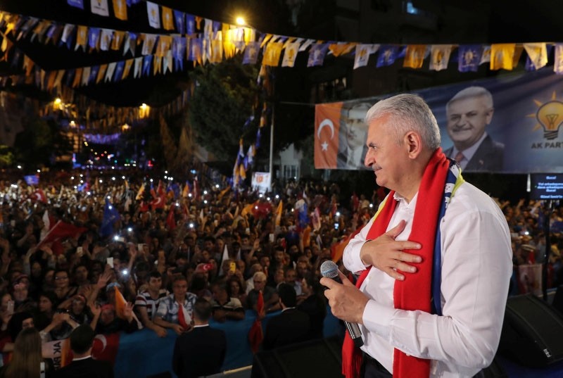
[[[260,194],[205,177],[180,183],[165,172],[38,175],[35,185],[19,172],[0,179],[4,363],[22,329],[34,327],[43,343],[66,339],[82,324],[98,334],[142,327],[182,334],[198,298],[210,301],[217,322],[241,320],[246,310],[260,317],[280,310],[281,283],[293,287],[296,307],[310,316],[310,338],[321,337],[327,307],[319,267],[385,195],[379,189],[341,198],[337,184],[315,180],[289,180]],[[520,267],[544,263],[546,216],[557,226],[547,282],[563,284],[563,206],[548,212],[540,201],[497,203],[512,233],[510,293],[538,290],[541,279]],[[53,237],[56,227],[66,227],[63,237]]]

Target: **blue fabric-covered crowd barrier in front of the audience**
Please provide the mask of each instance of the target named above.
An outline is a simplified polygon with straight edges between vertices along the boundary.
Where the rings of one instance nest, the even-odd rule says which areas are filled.
[[[262,329],[266,329],[268,320],[279,314],[271,313],[262,320]],[[227,336],[227,355],[221,370],[232,370],[252,365],[253,353],[248,342],[248,332],[254,320],[255,311],[247,310],[243,320],[227,320],[219,323],[210,322],[210,326],[222,329]],[[327,307],[324,319],[324,336],[342,334],[343,327]],[[122,333],[118,353],[115,358],[115,377],[147,377],[160,372],[172,372],[172,353],[177,335],[168,330],[167,336],[160,338],[150,329],[141,329],[132,334]],[[174,376],[174,374],[172,374]]]

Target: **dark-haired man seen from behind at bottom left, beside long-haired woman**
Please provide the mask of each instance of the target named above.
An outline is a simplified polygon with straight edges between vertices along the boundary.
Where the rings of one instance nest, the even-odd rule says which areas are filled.
[[[113,367],[108,361],[94,360],[91,356],[94,331],[89,325],[80,325],[70,334],[72,363],[57,370],[54,378],[113,378]]]

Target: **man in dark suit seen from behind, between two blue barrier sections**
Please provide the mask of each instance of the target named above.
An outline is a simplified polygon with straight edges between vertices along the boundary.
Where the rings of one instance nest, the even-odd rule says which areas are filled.
[[[194,327],[176,339],[172,370],[178,378],[217,374],[227,352],[227,338],[220,329],[209,327],[211,303],[198,298],[194,304]]]

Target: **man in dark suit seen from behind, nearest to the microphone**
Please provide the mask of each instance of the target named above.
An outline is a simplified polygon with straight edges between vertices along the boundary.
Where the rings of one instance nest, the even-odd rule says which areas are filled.
[[[295,308],[296,293],[293,286],[280,284],[277,291],[281,314],[272,317],[267,323],[262,341],[265,350],[305,341],[310,332],[309,315]]]

